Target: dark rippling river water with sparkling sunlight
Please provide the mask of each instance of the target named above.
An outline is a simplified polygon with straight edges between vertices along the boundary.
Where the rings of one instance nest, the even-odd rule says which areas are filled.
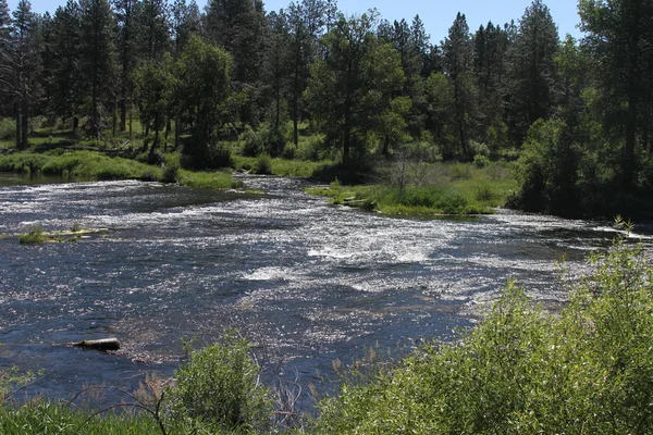
[[[0,188],[0,369],[46,369],[38,387],[53,396],[130,387],[147,371],[172,373],[183,337],[211,343],[236,326],[269,375],[315,383],[365,346],[451,337],[509,278],[564,301],[556,261],[579,273],[615,236],[605,223],[509,212],[391,219],[328,206],[298,181],[244,181],[266,195],[138,182]],[[75,222],[109,232],[39,246],[15,235]],[[60,346],[103,337],[121,340],[119,355]]]

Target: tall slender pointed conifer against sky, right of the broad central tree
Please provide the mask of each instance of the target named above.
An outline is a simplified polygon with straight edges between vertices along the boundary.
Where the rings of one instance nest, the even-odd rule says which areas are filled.
[[[442,44],[443,63],[454,88],[454,123],[460,145],[461,157],[471,159],[469,135],[475,116],[476,87],[472,79],[472,46],[465,14],[456,15],[448,36]]]

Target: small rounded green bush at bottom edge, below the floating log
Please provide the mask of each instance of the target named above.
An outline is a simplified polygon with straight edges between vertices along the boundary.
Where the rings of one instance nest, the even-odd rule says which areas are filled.
[[[190,353],[171,389],[177,419],[213,428],[262,431],[269,426],[269,390],[259,384],[250,345],[234,331],[222,341]]]

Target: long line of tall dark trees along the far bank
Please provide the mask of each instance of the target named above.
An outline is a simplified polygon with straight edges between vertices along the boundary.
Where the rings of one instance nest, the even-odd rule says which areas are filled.
[[[458,13],[433,44],[419,16],[346,16],[334,0],[69,0],[53,15],[0,0],[0,116],[19,149],[34,116],[98,139],[137,117],[152,156],[172,136],[189,166],[220,165],[220,140],[243,132],[260,142],[246,152],[282,154],[308,122],[343,163],[519,158],[516,207],[650,209],[653,1],[578,12],[580,41],[534,0],[475,32]]]

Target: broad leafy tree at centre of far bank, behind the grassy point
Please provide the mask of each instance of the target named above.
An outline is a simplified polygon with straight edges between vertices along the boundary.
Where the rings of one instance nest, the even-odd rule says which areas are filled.
[[[342,150],[345,164],[353,152],[365,153],[369,134],[378,130],[378,116],[405,79],[398,53],[379,42],[373,21],[373,11],[360,17],[340,15],[322,38],[328,55],[311,65],[306,90],[313,115],[328,140]]]

